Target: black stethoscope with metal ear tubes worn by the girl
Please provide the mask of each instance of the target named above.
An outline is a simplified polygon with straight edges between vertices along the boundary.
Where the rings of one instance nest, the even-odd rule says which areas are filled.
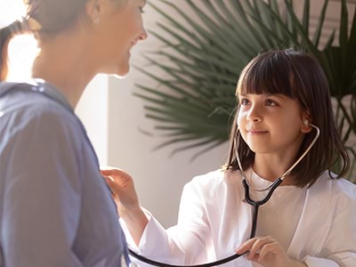
[[[251,232],[250,232],[250,237],[249,239],[253,239],[255,238],[255,232],[257,229],[257,216],[258,216],[258,208],[260,206],[262,206],[263,204],[265,204],[268,200],[270,200],[274,190],[277,189],[277,187],[279,186],[279,184],[281,182],[283,182],[283,180],[287,177],[287,175],[289,175],[292,170],[295,168],[295,166],[298,165],[298,163],[306,156],[306,154],[308,154],[308,152],[310,150],[312,150],[312,146],[315,144],[315,142],[317,142],[319,136],[320,136],[320,129],[318,126],[316,125],[312,125],[311,123],[308,123],[308,125],[312,126],[312,128],[314,128],[316,130],[316,134],[314,139],[312,140],[311,144],[308,146],[308,148],[303,152],[303,154],[295,161],[295,164],[292,165],[291,167],[289,167],[289,169],[287,169],[287,171],[282,174],[279,178],[277,178],[274,182],[271,183],[271,185],[263,188],[263,189],[256,189],[254,187],[252,187],[251,185],[248,184],[247,179],[245,177],[245,174],[243,172],[242,166],[241,166],[241,162],[239,159],[239,153],[237,150],[237,146],[236,146],[236,138],[234,139],[234,143],[235,143],[235,154],[236,154],[236,159],[238,161],[238,165],[239,165],[239,169],[241,172],[241,176],[242,176],[242,184],[244,186],[244,190],[245,190],[245,201],[251,205],[253,207],[253,212],[252,212],[252,227],[251,227]],[[239,131],[239,130],[238,130]],[[236,134],[237,136],[239,136],[239,132],[237,132]],[[261,200],[255,200],[253,198],[250,197],[250,190],[255,190],[255,191],[268,191],[267,195],[261,199]],[[160,263],[154,260],[151,260],[149,258],[146,258],[142,255],[139,255],[137,253],[135,253],[132,249],[128,249],[129,250],[129,254],[134,256],[136,259],[142,261],[143,263],[149,263],[151,265],[154,266],[160,266],[160,267],[213,267],[216,265],[221,265],[223,263],[229,263],[237,258],[239,258],[241,255],[244,254],[234,254],[231,255],[229,257],[223,258],[221,260],[212,262],[212,263],[202,263],[202,264],[196,264],[196,265],[174,265],[174,264],[168,264],[168,263]]]

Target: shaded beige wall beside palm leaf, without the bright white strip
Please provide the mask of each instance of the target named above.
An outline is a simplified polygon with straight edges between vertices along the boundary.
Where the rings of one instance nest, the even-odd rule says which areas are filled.
[[[158,1],[151,1],[159,4]],[[163,6],[160,4],[160,6]],[[184,9],[182,1],[181,8]],[[157,31],[156,22],[163,20],[150,6],[144,9],[144,22],[149,30]],[[166,20],[163,20],[166,21]],[[132,63],[147,66],[142,53],[156,50],[158,42],[153,36],[134,48]],[[197,174],[205,174],[223,165],[228,144],[211,150],[190,162],[197,150],[188,150],[169,158],[174,147],[152,149],[164,140],[147,136],[141,130],[153,134],[155,122],[144,117],[140,98],[133,95],[135,83],[155,85],[138,70],[131,69],[125,79],[109,81],[109,165],[119,166],[132,174],[142,206],[148,208],[160,223],[168,227],[177,219],[179,199],[184,183]]]

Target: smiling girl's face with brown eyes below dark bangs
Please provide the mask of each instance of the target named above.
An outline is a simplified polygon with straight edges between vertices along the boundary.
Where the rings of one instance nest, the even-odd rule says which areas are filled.
[[[295,157],[306,133],[296,100],[282,94],[239,95],[238,125],[255,154]]]

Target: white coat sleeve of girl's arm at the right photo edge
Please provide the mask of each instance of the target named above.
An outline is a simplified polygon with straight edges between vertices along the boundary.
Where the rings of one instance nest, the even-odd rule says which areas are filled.
[[[356,192],[340,199],[343,209],[334,217],[328,239],[323,247],[324,258],[306,256],[309,267],[356,266]]]

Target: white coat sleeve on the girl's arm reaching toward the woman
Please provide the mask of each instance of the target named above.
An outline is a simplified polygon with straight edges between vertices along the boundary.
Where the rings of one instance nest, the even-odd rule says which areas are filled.
[[[138,247],[134,246],[125,223],[121,221],[127,240],[134,250],[152,260],[164,263],[206,263],[206,238],[210,234],[204,201],[191,183],[186,184],[182,192],[177,225],[165,230],[151,214],[146,215],[149,223]]]

